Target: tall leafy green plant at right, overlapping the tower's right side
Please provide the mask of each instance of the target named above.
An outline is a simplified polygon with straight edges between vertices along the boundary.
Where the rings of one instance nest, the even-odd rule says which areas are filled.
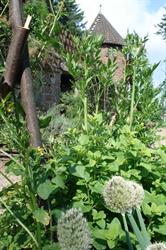
[[[128,89],[132,89],[135,85],[133,124],[138,126],[144,123],[144,126],[149,129],[149,123],[153,127],[161,121],[163,108],[159,96],[161,87],[154,87],[152,81],[153,72],[158,64],[150,65],[146,55],[146,42],[147,37],[141,39],[137,34],[128,34],[127,46],[123,51],[128,58],[125,72]],[[134,78],[132,72],[135,72]]]

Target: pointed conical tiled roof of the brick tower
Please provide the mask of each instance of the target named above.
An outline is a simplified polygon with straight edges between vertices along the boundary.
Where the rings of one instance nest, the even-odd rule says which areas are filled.
[[[101,13],[97,15],[92,26],[90,27],[90,32],[95,34],[103,35],[104,43],[112,45],[123,45],[123,38],[114,29],[110,22]]]

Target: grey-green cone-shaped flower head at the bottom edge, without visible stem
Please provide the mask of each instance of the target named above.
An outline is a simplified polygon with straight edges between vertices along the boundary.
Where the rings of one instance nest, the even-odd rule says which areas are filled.
[[[88,250],[91,248],[91,235],[88,224],[79,209],[72,208],[58,220],[58,240],[61,250]]]

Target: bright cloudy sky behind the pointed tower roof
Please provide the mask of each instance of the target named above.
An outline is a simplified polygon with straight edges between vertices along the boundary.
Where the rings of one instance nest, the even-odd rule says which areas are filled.
[[[163,6],[166,0],[76,0],[85,13],[87,27],[89,27],[99,12],[102,13],[125,37],[127,30],[136,31],[141,37],[148,34],[147,53],[151,63],[161,61],[154,74],[155,85],[160,84],[165,77],[164,59],[166,58],[166,42],[161,36],[156,35],[156,25],[165,13]]]

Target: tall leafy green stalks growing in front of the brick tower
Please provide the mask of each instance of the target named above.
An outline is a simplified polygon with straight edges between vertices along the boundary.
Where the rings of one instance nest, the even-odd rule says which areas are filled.
[[[149,145],[154,142],[154,129],[161,124],[164,114],[164,85],[153,85],[152,75],[158,64],[149,63],[146,42],[147,37],[141,39],[137,34],[127,35],[122,50],[126,58],[124,72],[117,79],[117,50],[111,49],[108,63],[103,64],[101,37],[84,35],[73,38],[74,53],[65,52],[64,60],[74,79],[71,99],[75,102],[71,106],[75,107],[78,120],[84,115],[84,126],[88,113],[104,111],[110,125],[116,125],[114,131],[130,124],[142,141]]]

